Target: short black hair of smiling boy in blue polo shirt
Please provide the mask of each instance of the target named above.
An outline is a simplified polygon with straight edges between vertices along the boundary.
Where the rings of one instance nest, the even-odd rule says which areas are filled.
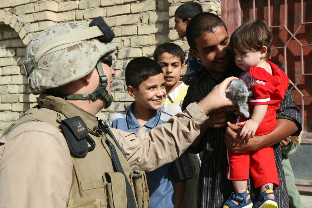
[[[132,59],[125,70],[125,80],[127,86],[132,86],[139,90],[139,85],[150,76],[163,73],[161,66],[153,59],[138,57]]]

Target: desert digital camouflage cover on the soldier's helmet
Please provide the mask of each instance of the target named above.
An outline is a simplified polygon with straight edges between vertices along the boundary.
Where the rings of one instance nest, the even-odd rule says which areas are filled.
[[[66,22],[47,28],[30,42],[26,60],[35,56],[51,39],[85,28],[88,26],[80,22]],[[29,88],[32,94],[41,94],[46,89],[79,80],[95,69],[102,56],[108,56],[115,50],[115,46],[97,38],[57,46],[36,60],[38,69],[33,69],[28,75]]]

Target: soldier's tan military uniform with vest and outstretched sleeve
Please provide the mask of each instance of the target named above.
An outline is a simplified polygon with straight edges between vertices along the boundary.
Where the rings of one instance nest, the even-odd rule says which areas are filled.
[[[127,207],[124,177],[114,172],[106,138],[94,133],[98,128],[96,117],[51,95],[41,95],[38,104],[44,108],[31,109],[0,138],[1,207]],[[71,157],[60,132],[59,122],[76,115],[84,120],[96,143],[84,158]],[[132,187],[138,181],[132,180],[130,167],[151,171],[173,161],[193,142],[206,119],[193,104],[149,134],[144,128],[138,134],[112,129],[126,152],[127,160],[115,146]],[[115,196],[116,192],[120,194]],[[146,207],[146,195],[140,194],[143,199],[139,206]],[[140,197],[136,198],[138,201]]]

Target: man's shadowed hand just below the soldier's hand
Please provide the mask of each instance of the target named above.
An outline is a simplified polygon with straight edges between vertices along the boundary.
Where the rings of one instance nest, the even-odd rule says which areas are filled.
[[[227,111],[229,108],[221,108],[211,111],[207,119],[207,124],[210,128],[221,128],[227,124]]]

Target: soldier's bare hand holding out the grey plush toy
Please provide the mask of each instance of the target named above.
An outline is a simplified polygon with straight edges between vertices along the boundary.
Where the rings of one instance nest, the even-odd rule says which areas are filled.
[[[231,99],[228,99],[225,96],[227,85],[229,85],[233,80],[238,80],[238,78],[229,77],[223,80],[223,82],[215,86],[204,99],[197,103],[198,107],[204,114],[208,115],[213,110],[217,110],[225,106],[236,105]]]

